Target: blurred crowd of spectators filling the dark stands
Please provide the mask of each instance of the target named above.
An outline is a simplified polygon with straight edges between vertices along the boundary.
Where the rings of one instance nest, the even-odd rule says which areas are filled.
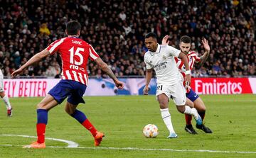
[[[144,35],[154,32],[159,43],[171,35],[189,35],[192,49],[203,55],[202,38],[210,45],[203,67],[194,77],[256,75],[256,1],[218,0],[0,0],[0,62],[9,77],[54,40],[65,37],[65,23],[78,20],[80,38],[90,43],[118,77],[145,74]],[[105,74],[88,63],[90,76]],[[55,77],[61,72],[57,54],[28,67],[26,77]]]

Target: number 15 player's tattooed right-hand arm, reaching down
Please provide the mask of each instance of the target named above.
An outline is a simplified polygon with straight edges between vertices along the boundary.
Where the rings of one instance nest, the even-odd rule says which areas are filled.
[[[110,69],[110,67],[108,67],[108,65],[102,61],[102,59],[100,57],[98,57],[96,60],[94,60],[96,62],[96,64],[100,67],[100,69],[102,69],[102,71],[106,72],[106,74],[113,79],[114,84],[117,86],[118,89],[124,89],[124,83],[122,83],[122,81],[119,81],[117,79],[117,77],[114,75],[114,73],[112,72],[112,70]]]

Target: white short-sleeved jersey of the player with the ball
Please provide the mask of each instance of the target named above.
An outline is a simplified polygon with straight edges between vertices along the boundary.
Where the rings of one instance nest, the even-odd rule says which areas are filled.
[[[154,69],[157,84],[173,85],[181,81],[174,57],[178,57],[181,51],[169,45],[157,46],[156,52],[147,51],[144,55],[146,69]]]

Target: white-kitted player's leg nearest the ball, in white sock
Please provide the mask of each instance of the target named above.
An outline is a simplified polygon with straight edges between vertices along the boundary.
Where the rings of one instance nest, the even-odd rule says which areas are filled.
[[[167,129],[170,132],[170,135],[167,138],[175,138],[178,137],[174,131],[174,127],[171,123],[171,114],[169,113],[169,98],[166,96],[166,94],[160,94],[157,96],[157,100],[159,101],[160,111],[161,111],[161,117],[164,120],[164,123],[167,127]]]

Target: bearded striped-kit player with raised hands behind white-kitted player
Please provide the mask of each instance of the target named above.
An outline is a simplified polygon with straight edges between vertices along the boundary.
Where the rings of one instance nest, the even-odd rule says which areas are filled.
[[[168,45],[169,44],[168,39],[169,39],[169,35],[166,35],[162,40],[162,44]],[[208,45],[208,40],[203,38],[202,43],[203,43],[203,47],[205,48],[206,51],[204,52],[204,54],[201,57],[198,57],[196,52],[191,51],[191,38],[188,37],[187,35],[183,35],[181,37],[179,47],[180,47],[181,52],[183,52],[188,57],[189,68],[191,70],[193,69],[194,64],[199,64],[200,66],[203,65],[206,62],[206,60],[210,54],[210,46]],[[183,75],[183,77],[185,77],[186,76],[185,65],[177,57],[175,57],[175,61],[177,63],[177,67],[180,70],[181,74]],[[198,111],[199,115],[201,116],[201,118],[203,120],[206,115],[205,104],[203,103],[202,99],[198,96],[198,94],[196,94],[196,92],[193,91],[193,89],[191,89],[190,86],[185,85],[185,88],[186,88],[186,97],[189,99],[189,100],[187,99],[186,104],[191,104],[189,102],[192,101],[193,102],[192,105],[196,108],[196,110]],[[192,120],[191,115],[185,115],[185,118],[186,118],[185,130],[190,134],[193,134],[193,135],[197,134],[196,130],[193,128],[192,123],[191,123],[191,120]],[[202,125],[196,124],[196,128],[203,130],[203,132],[206,132],[206,133],[212,133],[212,130],[210,130],[210,128],[206,127],[206,125],[204,125],[204,124],[202,124]]]

